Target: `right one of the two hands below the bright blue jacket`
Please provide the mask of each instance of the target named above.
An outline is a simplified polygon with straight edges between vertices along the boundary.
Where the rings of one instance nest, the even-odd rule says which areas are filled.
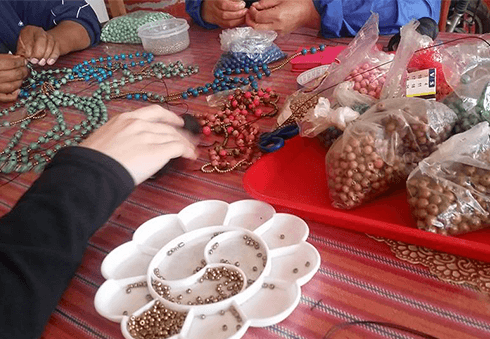
[[[250,6],[245,22],[281,34],[303,26],[320,28],[320,15],[312,0],[260,0]]]

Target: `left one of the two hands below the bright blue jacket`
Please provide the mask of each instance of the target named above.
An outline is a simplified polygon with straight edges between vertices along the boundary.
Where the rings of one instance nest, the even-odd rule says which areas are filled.
[[[202,19],[222,28],[243,24],[247,11],[241,0],[204,0],[201,7]]]

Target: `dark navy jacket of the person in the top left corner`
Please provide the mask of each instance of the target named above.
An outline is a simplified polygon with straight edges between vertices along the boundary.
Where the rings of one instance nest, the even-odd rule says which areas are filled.
[[[24,26],[48,30],[65,20],[76,21],[85,27],[92,44],[99,42],[99,20],[85,1],[0,0],[0,53],[15,53],[20,30]]]

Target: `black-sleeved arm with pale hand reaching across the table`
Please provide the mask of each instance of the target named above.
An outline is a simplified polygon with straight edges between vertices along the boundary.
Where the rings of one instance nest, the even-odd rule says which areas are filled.
[[[39,338],[89,237],[170,158],[195,158],[181,118],[150,106],[62,149],[0,219],[0,333]]]

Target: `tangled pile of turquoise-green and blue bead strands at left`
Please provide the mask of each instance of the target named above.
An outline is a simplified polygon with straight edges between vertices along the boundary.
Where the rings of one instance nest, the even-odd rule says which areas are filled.
[[[142,60],[136,61],[136,58]],[[128,63],[122,63],[126,60]],[[153,55],[147,53],[120,54],[114,57],[101,57],[84,61],[73,68],[50,69],[37,72],[31,67],[31,76],[25,81],[22,88],[22,98],[12,107],[0,112],[0,116],[7,116],[21,107],[26,109],[26,117],[16,121],[3,121],[1,126],[9,128],[19,125],[19,129],[0,152],[0,171],[3,173],[24,173],[31,169],[41,171],[51,160],[54,154],[64,146],[76,145],[91,131],[100,127],[108,119],[107,109],[103,100],[111,100],[114,93],[118,93],[118,86],[133,83],[144,78],[168,78],[179,75],[181,77],[197,72],[196,68],[184,70],[182,63],[165,66],[162,63],[148,65]],[[143,66],[139,72],[130,71],[130,67]],[[118,70],[123,70],[125,76],[121,80],[107,79]],[[99,89],[91,97],[80,97],[75,94],[61,92],[61,86],[74,81],[93,81],[99,83]],[[107,89],[110,89],[109,91]],[[114,93],[111,93],[114,89]],[[104,95],[105,94],[105,95]],[[135,94],[138,98],[139,94]],[[147,94],[141,95],[143,99]],[[161,96],[152,96],[152,99],[162,101]],[[61,108],[73,107],[85,114],[85,119],[68,128]],[[20,145],[24,132],[32,121],[51,116],[54,119],[52,127],[36,141],[27,145]]]

